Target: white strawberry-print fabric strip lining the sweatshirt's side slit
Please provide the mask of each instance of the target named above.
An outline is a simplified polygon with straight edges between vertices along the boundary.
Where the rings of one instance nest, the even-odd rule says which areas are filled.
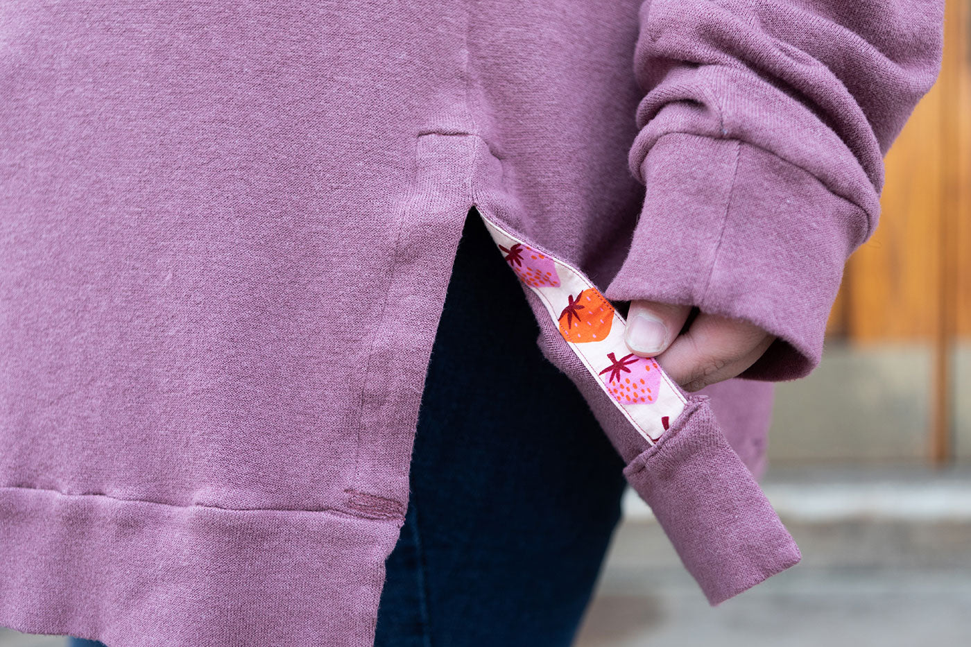
[[[651,444],[681,415],[686,399],[653,358],[630,352],[626,322],[579,269],[529,245],[477,208],[519,281],[539,295],[592,379]]]

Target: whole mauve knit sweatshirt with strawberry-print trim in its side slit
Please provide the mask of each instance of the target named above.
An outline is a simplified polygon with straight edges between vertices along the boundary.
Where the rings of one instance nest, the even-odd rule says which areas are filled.
[[[771,383],[820,360],[943,5],[0,3],[0,625],[371,644],[472,206],[710,602],[798,562]],[[778,341],[687,394],[630,299]]]

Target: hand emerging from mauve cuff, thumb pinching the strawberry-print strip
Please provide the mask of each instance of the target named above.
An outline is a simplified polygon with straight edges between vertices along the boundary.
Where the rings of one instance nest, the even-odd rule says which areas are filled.
[[[688,392],[735,377],[775,340],[753,323],[703,312],[679,334],[690,312],[686,305],[631,301],[625,333],[631,353],[656,358]]]

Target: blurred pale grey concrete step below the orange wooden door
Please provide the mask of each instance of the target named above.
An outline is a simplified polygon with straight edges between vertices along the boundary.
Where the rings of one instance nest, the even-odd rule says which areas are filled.
[[[635,494],[577,647],[971,645],[971,473],[774,470],[763,487],[802,562],[712,608]]]

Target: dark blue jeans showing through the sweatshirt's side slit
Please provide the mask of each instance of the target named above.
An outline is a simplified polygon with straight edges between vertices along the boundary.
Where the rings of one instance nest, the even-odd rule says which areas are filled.
[[[376,647],[573,641],[619,521],[623,463],[538,334],[473,211],[432,349]]]

